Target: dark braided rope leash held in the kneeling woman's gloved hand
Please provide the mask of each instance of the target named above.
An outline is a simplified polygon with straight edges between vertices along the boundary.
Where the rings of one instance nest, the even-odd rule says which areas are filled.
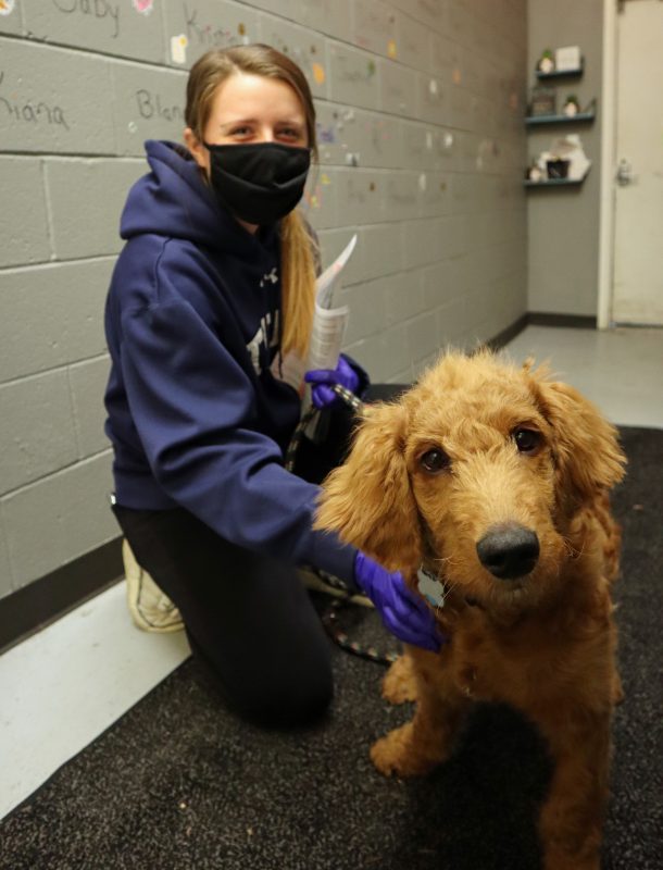
[[[361,415],[363,413],[364,403],[354,395],[354,393],[346,387],[342,387],[340,384],[334,384],[332,389],[340,399],[346,402],[346,405],[352,408],[355,414]],[[297,424],[297,428],[292,433],[290,444],[288,445],[288,449],[286,451],[285,467],[287,471],[293,471],[299,445],[301,444],[301,439],[304,437],[304,432],[309,427],[309,424],[316,413],[317,408],[311,406],[311,408],[309,408],[308,411],[302,414],[301,420]],[[324,583],[327,584],[327,586],[330,586],[332,588],[336,589],[337,593],[339,593],[339,597],[335,598],[322,614],[323,625],[325,626],[325,630],[332,639],[339,647],[341,647],[341,649],[345,649],[347,652],[351,652],[353,656],[359,656],[360,658],[367,659],[370,661],[376,661],[380,664],[391,664],[393,661],[396,661],[398,658],[398,652],[383,652],[374,646],[365,646],[364,644],[360,644],[358,641],[351,639],[350,635],[348,634],[348,630],[343,627],[342,613],[343,611],[348,610],[348,608],[358,606],[353,600],[355,597],[354,594],[350,592],[343,581],[339,577],[336,577],[333,574],[327,574],[326,571],[320,571],[318,569],[314,569],[314,572],[318,577],[321,577],[321,580],[324,581]]]

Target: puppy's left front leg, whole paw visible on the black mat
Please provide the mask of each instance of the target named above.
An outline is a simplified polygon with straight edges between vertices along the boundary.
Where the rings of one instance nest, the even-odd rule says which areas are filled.
[[[375,767],[385,775],[415,776],[443,761],[468,700],[440,674],[439,656],[409,649],[416,681],[414,719],[389,732],[371,748]]]

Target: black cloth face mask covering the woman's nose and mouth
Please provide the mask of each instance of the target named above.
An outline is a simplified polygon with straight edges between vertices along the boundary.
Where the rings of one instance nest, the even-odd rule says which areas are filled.
[[[279,142],[208,145],[211,183],[222,206],[249,224],[273,224],[302,198],[311,149]]]

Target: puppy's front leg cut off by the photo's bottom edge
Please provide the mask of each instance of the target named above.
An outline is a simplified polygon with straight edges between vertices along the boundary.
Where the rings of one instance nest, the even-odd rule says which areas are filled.
[[[545,870],[599,870],[601,830],[608,799],[610,711],[588,714],[581,726],[577,711],[564,722],[541,723],[555,765],[539,822]]]

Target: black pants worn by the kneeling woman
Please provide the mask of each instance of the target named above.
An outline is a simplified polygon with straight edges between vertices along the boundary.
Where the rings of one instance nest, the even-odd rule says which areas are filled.
[[[372,397],[402,387],[377,385]],[[318,483],[342,459],[353,421],[335,413],[325,445],[300,448]],[[333,696],[330,648],[292,564],[221,538],[184,508],[115,517],[138,563],[177,605],[193,655],[237,712],[272,726],[317,718]]]

